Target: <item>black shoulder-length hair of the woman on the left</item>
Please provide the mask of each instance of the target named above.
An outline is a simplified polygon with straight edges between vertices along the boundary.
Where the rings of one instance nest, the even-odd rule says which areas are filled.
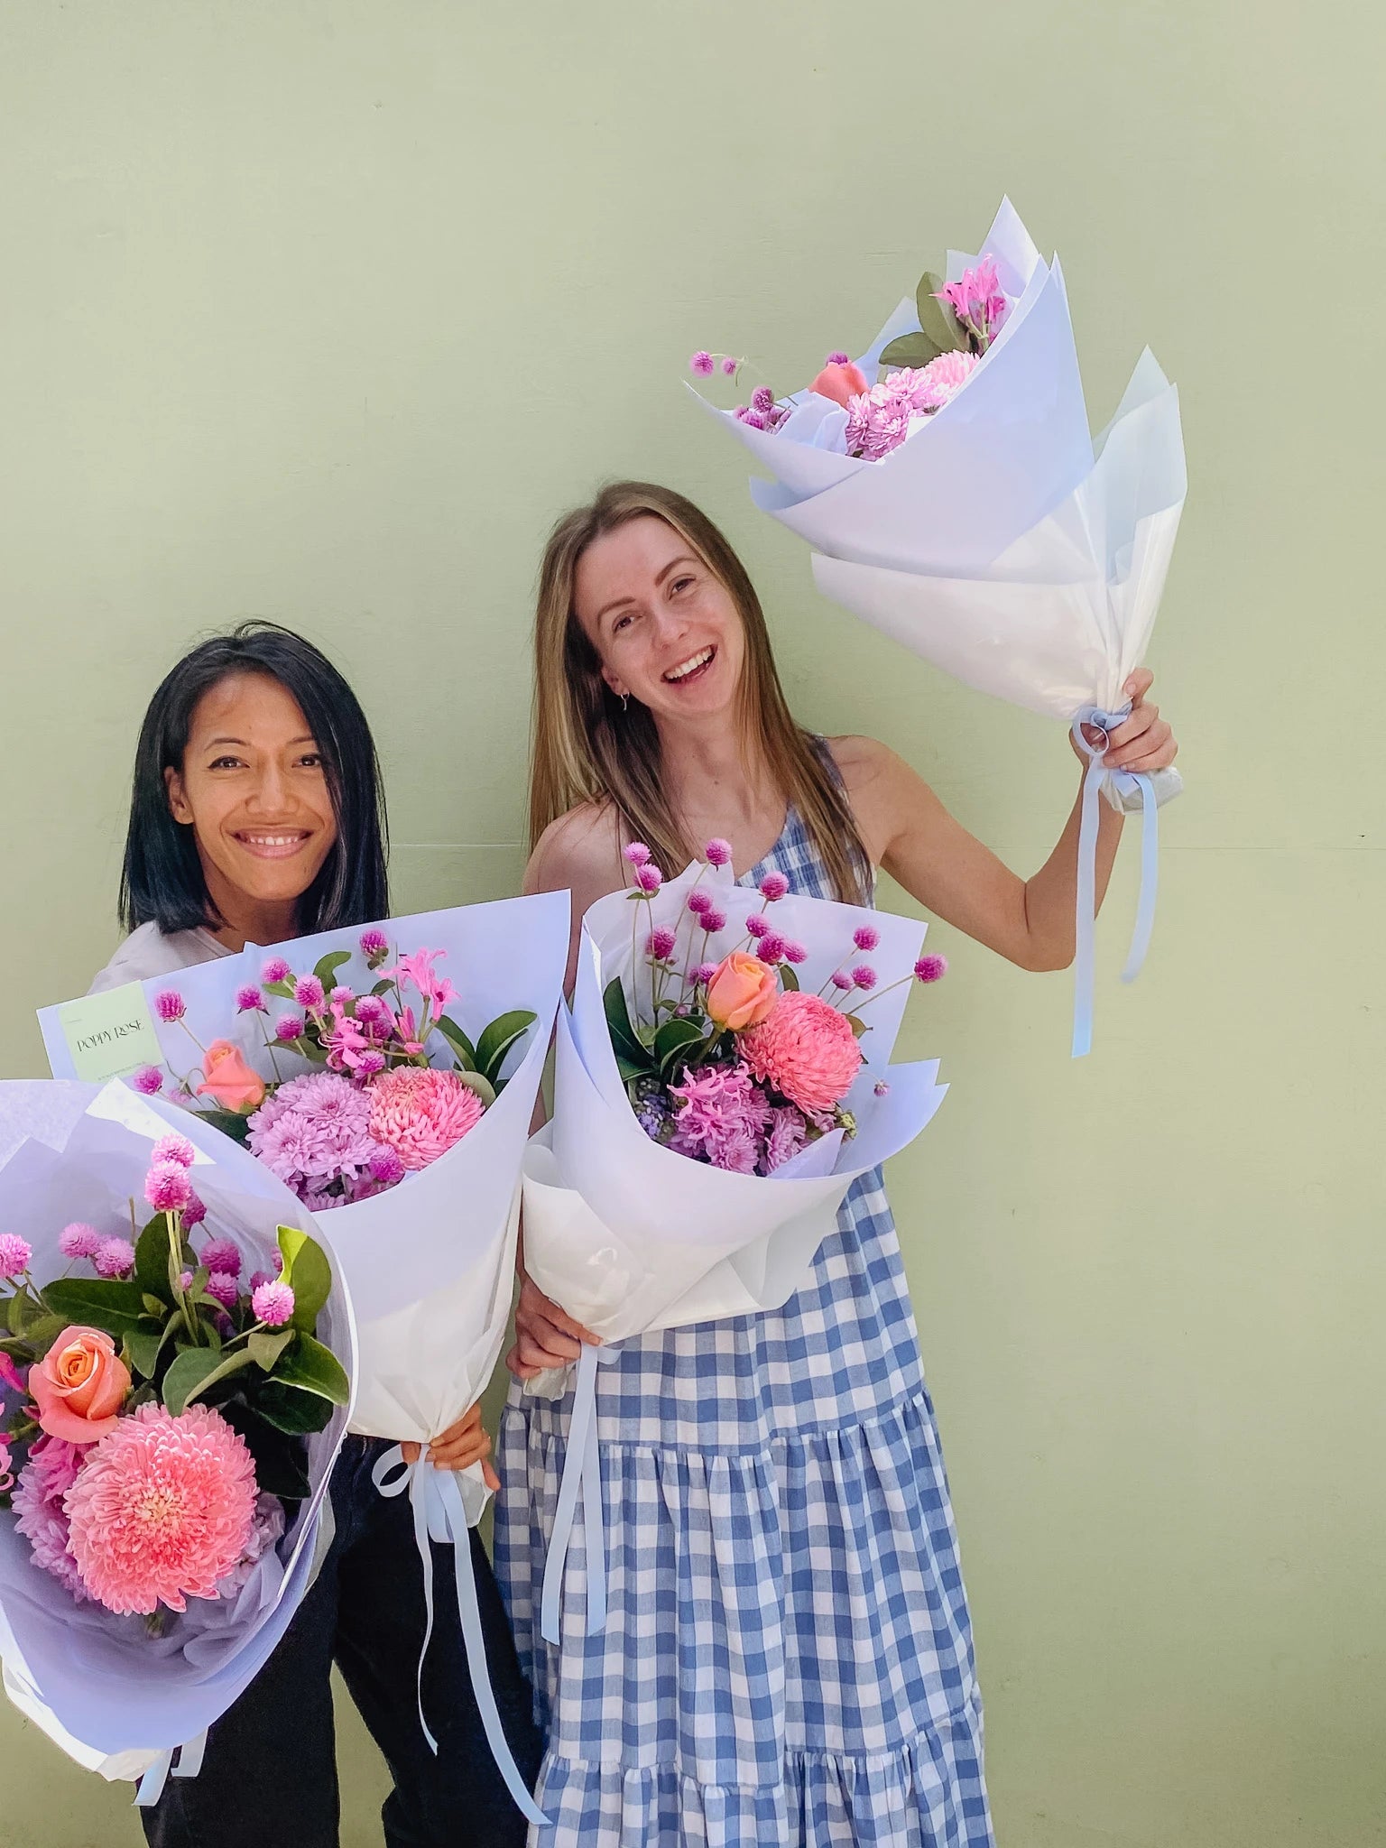
[[[336,839],[299,898],[299,935],[390,915],[384,787],[360,700],[303,636],[277,623],[253,621],[185,654],[144,713],[120,874],[120,922],[128,931],[150,922],[164,933],[222,922],[207,891],[192,828],[176,822],[168,808],[164,771],[183,774],[192,713],[203,693],[227,675],[248,673],[268,675],[298,700],[322,752],[336,817]]]

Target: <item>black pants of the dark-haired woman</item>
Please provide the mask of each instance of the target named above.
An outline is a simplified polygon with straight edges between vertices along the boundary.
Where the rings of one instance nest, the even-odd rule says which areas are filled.
[[[336,1538],[279,1647],[207,1733],[196,1778],[170,1778],[142,1809],[152,1848],[336,1848],[338,1793],[333,1693],[336,1661],[390,1765],[381,1811],[388,1848],[523,1848],[525,1818],[492,1759],[471,1693],[449,1547],[434,1547],[434,1632],[423,1669],[423,1567],[408,1495],[371,1482],[384,1445],[347,1438],[333,1473]],[[495,1704],[521,1776],[540,1769],[529,1685],[490,1562],[475,1532],[471,1560]]]

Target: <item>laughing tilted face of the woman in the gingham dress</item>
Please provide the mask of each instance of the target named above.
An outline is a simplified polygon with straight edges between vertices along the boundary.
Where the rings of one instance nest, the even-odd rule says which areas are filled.
[[[726,711],[747,643],[732,593],[667,521],[643,514],[582,553],[573,606],[602,680],[656,719]]]

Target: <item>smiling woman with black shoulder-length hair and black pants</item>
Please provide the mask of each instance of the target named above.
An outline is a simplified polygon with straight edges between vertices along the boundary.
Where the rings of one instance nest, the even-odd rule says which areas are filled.
[[[301,636],[244,623],[192,649],[150,702],[120,891],[131,931],[94,989],[231,955],[246,942],[388,917],[386,819],[375,745],[355,693]],[[519,1848],[525,1820],[486,1743],[468,1674],[451,1558],[434,1554],[429,1615],[403,1497],[371,1467],[384,1440],[347,1438],[331,1482],[331,1545],[259,1676],[211,1728],[196,1778],[170,1778],[142,1809],[155,1848],[285,1841],[336,1848],[333,1663],[386,1757],[390,1848]],[[418,1458],[414,1445],[405,1447]],[[429,1447],[440,1469],[482,1462],[480,1406]],[[471,1556],[486,1660],[510,1750],[538,1767],[530,1693],[519,1674],[490,1563]],[[438,1737],[429,1748],[419,1695]]]

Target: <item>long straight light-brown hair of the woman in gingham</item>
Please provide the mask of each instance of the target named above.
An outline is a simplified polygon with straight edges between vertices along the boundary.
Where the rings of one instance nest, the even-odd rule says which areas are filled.
[[[649,708],[630,706],[602,680],[601,658],[573,608],[577,564],[593,540],[630,519],[663,519],[730,593],[745,630],[737,689],[741,737],[758,741],[774,785],[798,811],[841,900],[867,896],[870,861],[846,795],[817,741],[795,724],[771,652],[765,612],[747,569],[704,512],[673,488],[617,480],[553,529],[540,567],[534,615],[534,750],[529,784],[530,852],[543,830],[582,802],[610,804],[630,839],[669,872],[702,843],[684,828],[663,789],[660,734]]]

